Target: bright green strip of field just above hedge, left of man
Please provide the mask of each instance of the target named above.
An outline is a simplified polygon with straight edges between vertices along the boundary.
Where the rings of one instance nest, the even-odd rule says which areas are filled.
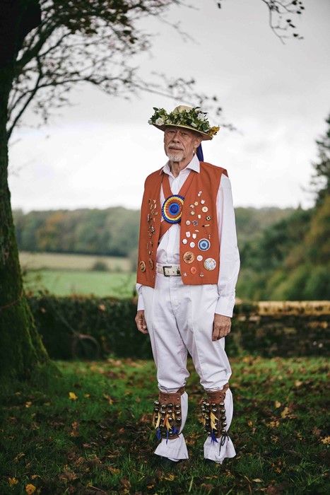
[[[27,291],[37,292],[47,289],[57,296],[72,293],[95,296],[132,296],[136,284],[136,274],[88,272],[69,269],[43,269],[28,272],[24,277]]]

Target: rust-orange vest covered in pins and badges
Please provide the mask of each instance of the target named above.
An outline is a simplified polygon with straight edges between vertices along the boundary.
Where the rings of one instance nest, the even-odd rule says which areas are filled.
[[[190,170],[186,179],[189,180],[194,174],[184,197],[179,223],[180,269],[184,284],[218,283],[220,246],[216,198],[223,173],[228,175],[225,168],[200,162],[200,172]],[[137,282],[150,287],[155,286],[156,252],[162,218],[160,187],[165,175],[162,169],[148,175],[141,206]],[[164,194],[166,199],[165,191]]]

